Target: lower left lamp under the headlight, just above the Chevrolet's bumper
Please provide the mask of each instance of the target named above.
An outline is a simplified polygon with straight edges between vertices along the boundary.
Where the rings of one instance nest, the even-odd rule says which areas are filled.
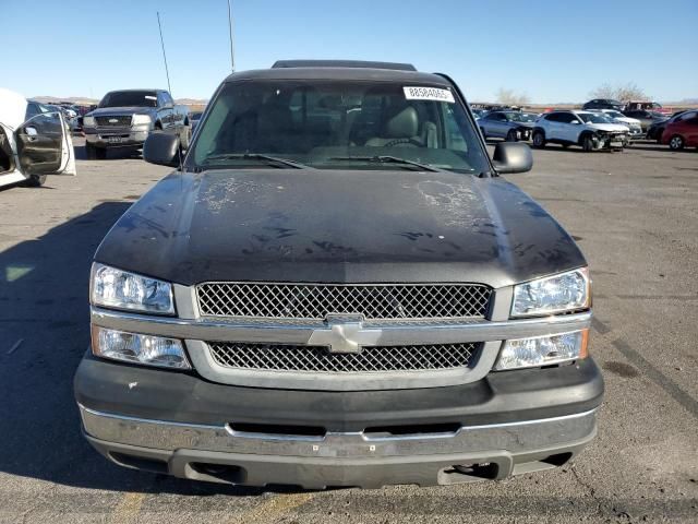
[[[182,341],[141,335],[93,325],[92,353],[111,358],[163,368],[191,369]]]

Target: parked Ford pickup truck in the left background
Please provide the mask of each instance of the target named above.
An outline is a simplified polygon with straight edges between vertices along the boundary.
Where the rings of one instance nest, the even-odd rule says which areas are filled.
[[[103,159],[110,147],[140,147],[152,132],[191,140],[189,108],[174,105],[165,90],[124,90],[107,93],[83,118],[87,158]]]

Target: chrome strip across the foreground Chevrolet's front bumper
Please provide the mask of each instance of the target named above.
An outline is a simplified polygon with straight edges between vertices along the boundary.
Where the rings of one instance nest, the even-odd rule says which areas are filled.
[[[248,433],[229,426],[152,420],[98,412],[79,404],[93,438],[158,450],[208,450],[296,456],[420,455],[479,450],[519,452],[580,440],[595,430],[597,408],[561,417],[462,426],[452,433],[366,437],[362,431],[324,437]]]

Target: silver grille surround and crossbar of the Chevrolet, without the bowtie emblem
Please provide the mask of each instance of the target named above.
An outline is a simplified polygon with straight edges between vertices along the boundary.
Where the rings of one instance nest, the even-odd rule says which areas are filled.
[[[183,302],[182,302],[183,303]],[[194,313],[194,311],[189,311]],[[103,327],[184,340],[190,360],[207,380],[224,384],[276,389],[320,389],[361,391],[408,388],[441,388],[474,382],[492,370],[502,341],[545,336],[582,330],[591,325],[591,311],[534,319],[480,322],[389,322],[380,324],[380,336],[372,345],[482,343],[469,367],[433,371],[373,373],[293,372],[227,368],[218,365],[206,342],[249,342],[308,345],[324,322],[242,321],[210,318],[168,318],[116,311],[93,306],[91,320]],[[372,326],[364,323],[364,326]]]

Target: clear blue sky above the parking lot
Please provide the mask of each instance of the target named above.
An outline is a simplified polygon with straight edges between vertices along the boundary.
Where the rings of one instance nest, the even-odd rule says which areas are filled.
[[[27,97],[167,87],[210,97],[230,73],[227,0],[0,0],[0,86]],[[411,62],[471,102],[500,88],[583,102],[634,82],[661,102],[698,98],[698,0],[232,0],[236,69],[278,59]]]

